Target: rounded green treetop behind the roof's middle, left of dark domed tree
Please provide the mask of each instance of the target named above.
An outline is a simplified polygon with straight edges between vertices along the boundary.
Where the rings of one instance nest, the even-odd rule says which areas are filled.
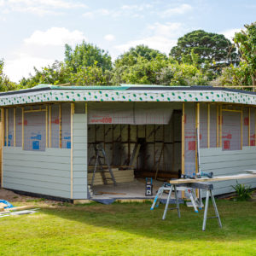
[[[139,57],[143,57],[147,61],[154,60],[157,56],[167,59],[166,55],[157,49],[148,48],[148,46],[140,44],[135,48],[131,47],[123,55],[119,55],[114,62],[114,67],[133,66],[137,63]]]

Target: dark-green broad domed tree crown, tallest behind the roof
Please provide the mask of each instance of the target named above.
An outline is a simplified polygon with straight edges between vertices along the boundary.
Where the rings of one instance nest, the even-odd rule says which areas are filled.
[[[222,67],[235,64],[238,61],[236,48],[224,35],[195,30],[177,39],[177,46],[171,49],[169,55],[181,62],[191,60],[191,52],[199,56],[201,67],[205,63],[211,64],[215,73],[220,73]]]

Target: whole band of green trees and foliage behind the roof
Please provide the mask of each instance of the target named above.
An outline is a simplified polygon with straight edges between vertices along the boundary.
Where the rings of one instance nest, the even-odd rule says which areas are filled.
[[[137,45],[112,61],[108,51],[83,42],[65,45],[64,61],[37,69],[14,83],[3,73],[0,90],[19,90],[37,84],[71,85],[256,85],[256,22],[236,33],[234,43],[224,35],[203,30],[178,38],[167,56]]]

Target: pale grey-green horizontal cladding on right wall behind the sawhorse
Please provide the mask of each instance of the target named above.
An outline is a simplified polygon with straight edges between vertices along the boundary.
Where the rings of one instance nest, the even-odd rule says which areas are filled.
[[[242,150],[222,150],[222,148],[201,148],[201,172],[213,172],[214,176],[227,176],[256,170],[256,148],[243,147]],[[256,188],[256,178],[241,179],[238,183]],[[233,192],[236,180],[213,182],[214,195]]]

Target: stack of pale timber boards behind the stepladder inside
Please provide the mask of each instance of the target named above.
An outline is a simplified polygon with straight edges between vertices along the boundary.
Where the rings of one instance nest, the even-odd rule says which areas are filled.
[[[91,178],[93,175],[93,169],[94,166],[89,166],[89,172],[88,172],[88,183],[90,184]],[[107,178],[110,178],[110,173],[108,172],[108,169],[104,168],[106,170],[105,176]],[[134,170],[133,169],[127,169],[127,170],[119,170],[119,168],[112,168],[113,176],[116,180],[116,183],[129,183],[134,181]],[[94,178],[94,185],[102,185],[103,179],[102,179],[102,173],[96,172],[95,178]],[[111,179],[108,179],[108,184],[113,184],[113,181]]]

